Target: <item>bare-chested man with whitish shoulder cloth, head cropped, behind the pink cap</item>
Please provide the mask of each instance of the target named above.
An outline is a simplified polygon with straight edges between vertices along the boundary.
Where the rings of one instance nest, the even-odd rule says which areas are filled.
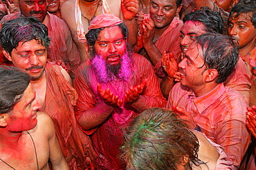
[[[138,12],[137,0],[70,0],[61,6],[62,19],[71,30],[82,61],[88,59],[85,34],[91,20],[99,14],[108,13],[120,17],[129,29],[129,43],[136,42],[138,28],[134,19]]]

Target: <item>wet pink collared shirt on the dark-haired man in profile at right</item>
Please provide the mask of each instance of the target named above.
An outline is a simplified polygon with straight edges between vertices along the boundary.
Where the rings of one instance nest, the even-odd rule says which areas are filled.
[[[235,167],[239,167],[250,142],[245,114],[248,104],[241,94],[221,83],[208,94],[196,97],[192,89],[176,83],[170,92],[167,109],[173,105],[190,112],[201,131],[212,142],[224,147]]]

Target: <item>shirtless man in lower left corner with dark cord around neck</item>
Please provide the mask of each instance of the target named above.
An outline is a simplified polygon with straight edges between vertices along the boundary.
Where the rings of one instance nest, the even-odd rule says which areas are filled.
[[[30,76],[0,67],[0,169],[69,169],[51,118],[37,111]]]

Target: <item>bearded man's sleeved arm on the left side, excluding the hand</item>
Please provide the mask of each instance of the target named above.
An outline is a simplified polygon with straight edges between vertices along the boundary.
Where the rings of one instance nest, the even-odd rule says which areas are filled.
[[[103,100],[100,100],[100,102],[96,101],[97,96],[95,96],[88,81],[88,74],[90,73],[82,70],[85,67],[80,67],[79,70],[77,70],[74,81],[74,87],[78,94],[75,116],[80,127],[84,129],[84,133],[89,135],[93,134],[95,131],[93,128],[98,127],[98,125],[104,123],[104,121],[111,116],[115,107],[107,105]],[[90,129],[92,129],[92,131],[88,131]]]

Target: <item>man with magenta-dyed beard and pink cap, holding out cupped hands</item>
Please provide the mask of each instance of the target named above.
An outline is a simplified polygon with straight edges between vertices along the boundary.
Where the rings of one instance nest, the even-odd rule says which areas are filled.
[[[79,67],[74,82],[77,121],[91,136],[104,169],[124,169],[118,158],[124,128],[145,109],[166,103],[152,65],[129,52],[127,36],[118,17],[95,17],[86,34],[91,58]]]

